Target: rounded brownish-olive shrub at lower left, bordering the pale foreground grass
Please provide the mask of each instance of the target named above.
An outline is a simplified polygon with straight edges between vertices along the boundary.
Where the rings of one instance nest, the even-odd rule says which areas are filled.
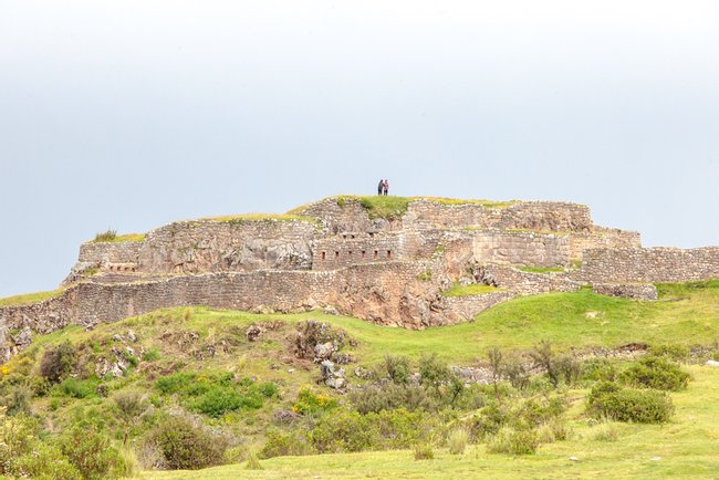
[[[183,417],[169,417],[150,430],[144,438],[144,446],[161,457],[161,463],[173,470],[220,465],[227,449],[227,441]]]

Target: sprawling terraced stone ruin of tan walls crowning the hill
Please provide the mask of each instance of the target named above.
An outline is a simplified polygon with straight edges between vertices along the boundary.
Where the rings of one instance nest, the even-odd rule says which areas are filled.
[[[0,307],[0,362],[32,333],[92,327],[161,307],[325,312],[407,328],[466,322],[520,295],[571,292],[656,300],[657,282],[719,278],[719,247],[642,248],[593,223],[586,206],[413,199],[374,218],[332,197],[292,216],[178,221],[140,241],[84,243],[65,290]],[[455,284],[484,292],[446,296]]]

